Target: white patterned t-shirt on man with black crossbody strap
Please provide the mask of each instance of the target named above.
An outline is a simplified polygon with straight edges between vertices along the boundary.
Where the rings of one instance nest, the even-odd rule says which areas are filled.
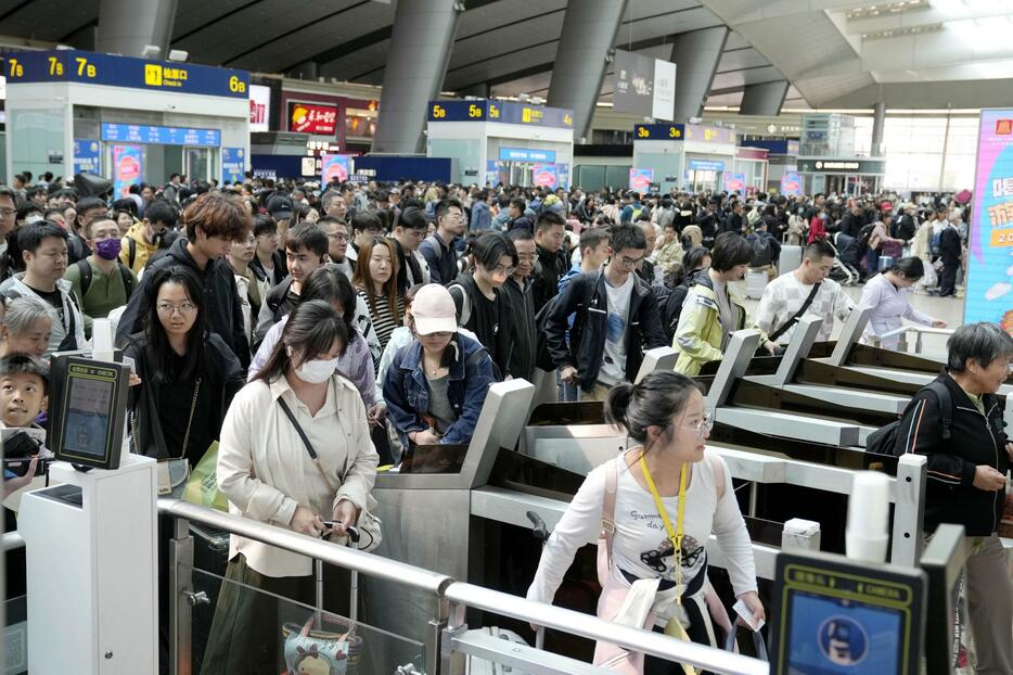
[[[795,277],[795,272],[785,272],[767,284],[764,289],[764,296],[756,308],[756,324],[770,334],[771,332],[784,326],[788,319],[795,316],[795,313],[802,307],[809,293],[812,291],[812,284],[805,284]],[[820,290],[817,292],[812,303],[806,309],[805,316],[816,316],[823,319],[820,326],[820,332],[817,334],[818,341],[830,340],[834,330],[834,317],[842,321],[848,318],[855,303],[848,297],[833,279],[824,279],[820,283]],[[795,327],[792,326],[778,338],[780,344],[787,344],[795,334]]]

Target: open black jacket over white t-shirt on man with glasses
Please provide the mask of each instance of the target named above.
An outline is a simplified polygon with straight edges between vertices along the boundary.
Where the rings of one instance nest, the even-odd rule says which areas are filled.
[[[577,275],[563,289],[562,296],[553,304],[546,326],[546,342],[555,367],[557,369],[566,366],[575,367],[577,377],[580,379],[580,387],[586,392],[594,389],[605,353],[607,293],[605,276],[602,272]],[[572,314],[577,316],[574,319],[569,347],[567,347],[565,335],[567,319]],[[663,347],[666,344],[654,290],[636,275],[633,275],[633,291],[630,293],[628,316],[626,379],[632,382],[643,361],[644,349]]]

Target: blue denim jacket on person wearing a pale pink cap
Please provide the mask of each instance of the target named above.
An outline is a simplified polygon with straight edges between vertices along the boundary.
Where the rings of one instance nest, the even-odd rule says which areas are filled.
[[[460,333],[451,341],[450,349],[454,348],[454,342],[458,347],[450,362],[447,394],[458,420],[447,429],[440,444],[466,444],[472,440],[486,392],[493,382],[492,359],[488,351],[469,364],[469,358],[485,347]],[[407,447],[408,434],[427,429],[421,416],[429,409],[429,385],[422,369],[422,344],[418,340],[402,347],[394,357],[383,383],[383,397],[387,404],[387,417]]]

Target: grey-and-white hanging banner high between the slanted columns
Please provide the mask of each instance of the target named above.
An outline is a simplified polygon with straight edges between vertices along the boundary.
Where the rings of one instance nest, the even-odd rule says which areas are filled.
[[[675,119],[676,64],[615,51],[613,109],[655,119]]]

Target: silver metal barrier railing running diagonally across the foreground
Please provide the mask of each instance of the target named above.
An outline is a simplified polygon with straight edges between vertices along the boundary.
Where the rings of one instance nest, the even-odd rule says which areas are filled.
[[[222,513],[187,501],[159,498],[158,512],[171,517],[175,521],[169,546],[170,588],[174,588],[176,593],[176,601],[169,607],[170,633],[174,642],[170,652],[170,673],[185,672],[180,666],[190,663],[191,615],[188,594],[192,595],[192,588],[191,580],[188,577],[193,564],[193,539],[189,531],[191,521],[297,552],[338,568],[432,594],[437,600],[437,610],[429,622],[424,642],[425,668],[429,675],[463,674],[464,661],[469,654],[496,661],[500,657],[497,651],[499,644],[503,650],[501,658],[514,664],[523,663],[529,666],[529,668],[522,667],[522,670],[542,673],[564,673],[567,670],[568,672],[578,670],[580,672],[606,672],[549,652],[531,648],[521,650],[517,645],[502,640],[486,645],[478,650],[475,644],[467,639],[470,632],[464,625],[466,608],[492,612],[591,640],[612,642],[631,651],[690,663],[714,673],[760,675],[760,673],[768,672],[768,664],[756,659],[675,640],[659,634],[602,621],[597,616],[456,582],[444,574],[351,550],[291,530]],[[453,611],[451,611],[451,604]],[[562,662],[565,665],[555,668],[543,667],[549,662]]]

